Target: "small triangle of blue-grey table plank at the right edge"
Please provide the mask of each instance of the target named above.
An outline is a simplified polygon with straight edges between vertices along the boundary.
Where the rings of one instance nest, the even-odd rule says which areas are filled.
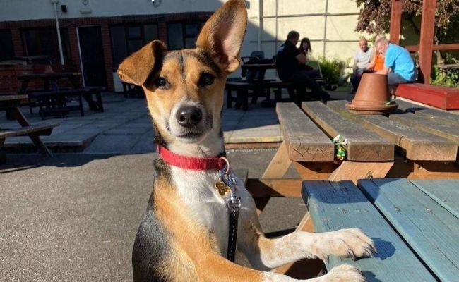
[[[459,219],[458,180],[411,180],[411,183]]]

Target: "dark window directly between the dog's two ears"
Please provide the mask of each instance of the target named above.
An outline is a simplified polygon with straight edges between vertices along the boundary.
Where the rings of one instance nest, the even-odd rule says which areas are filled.
[[[202,23],[169,23],[167,25],[167,46],[171,50],[196,47]]]

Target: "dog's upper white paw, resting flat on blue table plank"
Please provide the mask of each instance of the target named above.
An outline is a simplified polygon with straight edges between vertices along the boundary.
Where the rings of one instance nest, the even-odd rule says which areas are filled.
[[[350,257],[355,260],[359,257],[372,257],[376,251],[373,240],[360,229],[340,229],[328,233],[330,235],[330,255]]]

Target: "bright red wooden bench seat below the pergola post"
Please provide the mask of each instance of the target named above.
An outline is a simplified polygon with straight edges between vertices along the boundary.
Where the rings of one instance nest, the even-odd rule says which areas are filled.
[[[395,90],[396,97],[421,102],[439,109],[459,109],[459,89],[425,85],[422,83],[400,84]]]

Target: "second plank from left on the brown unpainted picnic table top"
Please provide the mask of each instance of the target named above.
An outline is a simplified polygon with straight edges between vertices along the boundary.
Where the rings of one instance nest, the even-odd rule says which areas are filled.
[[[340,134],[347,139],[350,161],[392,161],[394,145],[376,133],[354,123],[321,102],[303,102],[302,109],[329,136]]]

